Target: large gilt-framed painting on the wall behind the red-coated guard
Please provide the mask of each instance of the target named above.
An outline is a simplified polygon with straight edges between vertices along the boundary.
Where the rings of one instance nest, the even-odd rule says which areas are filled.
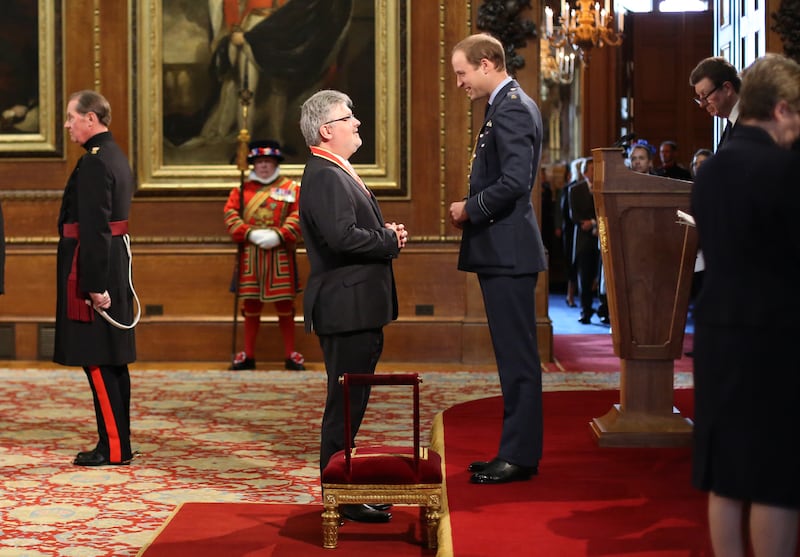
[[[239,181],[235,153],[243,128],[253,140],[280,141],[282,173],[299,178],[308,153],[300,106],[330,88],[353,99],[362,122],[364,143],[351,159],[359,174],[378,195],[406,195],[405,0],[273,5],[232,13],[223,0],[136,0],[131,75],[139,193],[227,192]],[[252,94],[246,111],[243,90]]]

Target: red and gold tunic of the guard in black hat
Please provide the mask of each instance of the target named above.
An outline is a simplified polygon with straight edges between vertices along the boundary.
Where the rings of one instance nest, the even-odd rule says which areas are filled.
[[[239,261],[239,296],[262,302],[291,300],[300,292],[295,246],[300,239],[298,215],[300,186],[279,177],[265,185],[244,184],[244,214],[239,214],[239,188],[233,188],[225,204],[225,225],[234,242],[244,243]],[[271,228],[281,243],[269,250],[247,241],[251,230]]]

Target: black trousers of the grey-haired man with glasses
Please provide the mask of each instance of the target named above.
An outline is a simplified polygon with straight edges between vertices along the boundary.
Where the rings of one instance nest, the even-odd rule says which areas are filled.
[[[338,335],[320,335],[319,344],[328,374],[328,395],[322,415],[319,450],[320,473],[331,456],[344,449],[344,390],[339,377],[345,373],[375,373],[383,352],[383,329]],[[350,440],[355,442],[369,402],[369,386],[350,388]]]

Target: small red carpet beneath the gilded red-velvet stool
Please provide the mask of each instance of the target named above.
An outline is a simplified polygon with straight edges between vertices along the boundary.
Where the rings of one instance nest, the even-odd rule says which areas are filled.
[[[184,503],[142,557],[433,557],[416,507],[395,507],[388,524],[346,523],[339,547],[322,548],[321,505]]]

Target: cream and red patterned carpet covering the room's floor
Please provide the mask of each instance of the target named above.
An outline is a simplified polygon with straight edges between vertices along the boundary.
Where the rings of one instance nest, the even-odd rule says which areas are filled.
[[[425,432],[445,408],[500,394],[494,371],[422,376]],[[96,435],[83,372],[0,368],[0,557],[134,556],[185,501],[320,501],[324,372],[133,367],[131,377],[141,455],[130,466],[82,469],[71,460]],[[618,381],[618,373],[544,374],[546,390]],[[690,374],[676,373],[676,386],[690,385]],[[375,391],[362,440],[406,440],[409,398],[392,389]]]

